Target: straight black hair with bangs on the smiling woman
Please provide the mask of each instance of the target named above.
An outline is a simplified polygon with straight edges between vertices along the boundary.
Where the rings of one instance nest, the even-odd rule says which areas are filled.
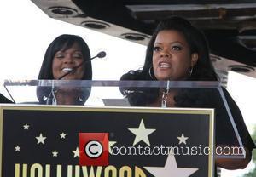
[[[49,47],[46,49],[46,52],[44,54],[44,60],[38,75],[38,80],[54,79],[53,71],[52,71],[52,63],[54,60],[55,53],[60,50],[65,51],[67,49],[70,49],[74,43],[78,43],[79,48],[81,49],[81,52],[83,55],[83,59],[86,61],[86,63],[84,63],[84,76],[82,77],[82,80],[91,80],[92,69],[91,69],[91,62],[90,62],[90,49],[88,45],[84,42],[84,39],[82,37],[79,37],[76,35],[70,35],[70,34],[62,34],[61,36],[56,37],[55,40],[49,44]],[[81,92],[79,99],[82,101],[78,101],[77,103],[74,103],[74,104],[83,105],[90,95],[90,88],[84,88],[83,90],[78,90],[78,91]],[[50,93],[51,93],[50,88],[38,87],[37,96],[38,96],[39,102],[41,104],[45,104],[47,100],[50,99]]]

